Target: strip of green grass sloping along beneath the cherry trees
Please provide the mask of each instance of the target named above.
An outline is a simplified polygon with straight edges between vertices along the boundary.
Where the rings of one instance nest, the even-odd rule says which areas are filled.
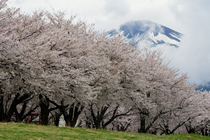
[[[109,130],[0,123],[0,140],[207,140],[197,134],[157,136]]]

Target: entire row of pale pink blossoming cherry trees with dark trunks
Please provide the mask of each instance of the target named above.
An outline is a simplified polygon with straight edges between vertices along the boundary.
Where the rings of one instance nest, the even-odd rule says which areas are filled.
[[[136,49],[64,16],[22,14],[0,1],[1,122],[40,112],[43,125],[53,116],[58,126],[63,115],[71,127],[80,118],[112,129],[119,118],[122,131],[170,134],[208,112],[209,93],[195,91],[161,52]]]

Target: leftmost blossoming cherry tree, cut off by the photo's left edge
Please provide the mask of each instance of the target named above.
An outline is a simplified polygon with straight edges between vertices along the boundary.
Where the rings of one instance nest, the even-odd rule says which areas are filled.
[[[17,111],[17,105],[33,98],[34,87],[29,81],[31,71],[22,67],[27,64],[22,61],[26,58],[21,55],[25,47],[22,47],[21,42],[35,34],[32,28],[42,17],[42,13],[22,15],[19,9],[8,8],[6,2],[0,2],[0,121],[10,121],[14,111]]]

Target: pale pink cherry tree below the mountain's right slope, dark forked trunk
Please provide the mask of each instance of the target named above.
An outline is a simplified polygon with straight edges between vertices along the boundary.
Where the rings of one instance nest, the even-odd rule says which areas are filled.
[[[143,59],[142,64],[137,65],[141,74],[138,80],[142,82],[139,81],[139,89],[135,91],[132,100],[139,111],[139,132],[146,133],[163,115],[184,108],[192,112],[193,104],[189,103],[189,98],[195,97],[197,92],[187,82],[186,74],[180,76],[177,69],[163,63],[160,52],[145,50],[140,57]]]

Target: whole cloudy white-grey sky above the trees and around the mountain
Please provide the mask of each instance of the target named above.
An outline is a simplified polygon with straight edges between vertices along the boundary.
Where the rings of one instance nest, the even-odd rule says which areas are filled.
[[[183,33],[178,49],[162,47],[170,66],[189,81],[210,81],[210,0],[9,0],[23,12],[65,11],[67,17],[95,23],[96,30],[118,29],[130,20],[150,20]]]

